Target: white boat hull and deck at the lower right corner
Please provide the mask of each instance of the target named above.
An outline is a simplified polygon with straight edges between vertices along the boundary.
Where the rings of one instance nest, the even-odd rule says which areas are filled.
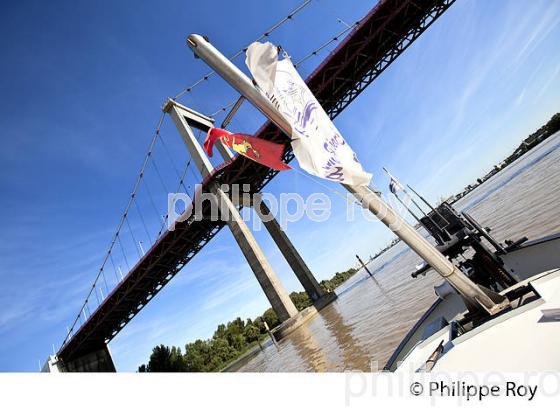
[[[527,242],[502,258],[520,281],[504,292],[530,284],[535,300],[451,340],[448,323],[466,307],[455,292],[440,292],[385,368],[421,371],[434,355],[433,370],[560,371],[560,320],[551,314],[560,308],[560,234]],[[434,354],[440,344],[441,353]]]

